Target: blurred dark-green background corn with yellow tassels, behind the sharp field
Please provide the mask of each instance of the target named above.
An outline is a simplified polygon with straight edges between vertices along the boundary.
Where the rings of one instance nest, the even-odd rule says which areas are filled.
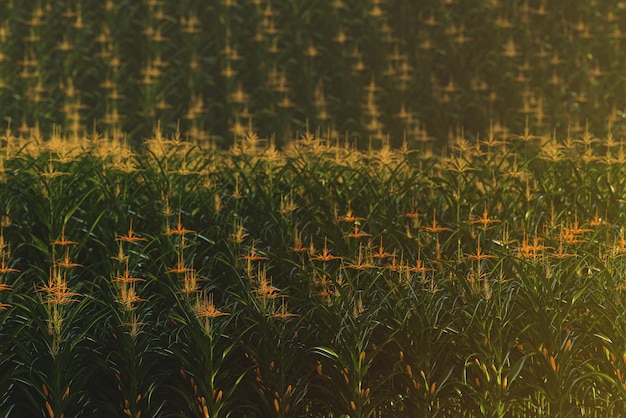
[[[399,145],[621,132],[621,1],[7,0],[0,117],[227,147],[253,130]],[[251,129],[249,129],[251,128]]]

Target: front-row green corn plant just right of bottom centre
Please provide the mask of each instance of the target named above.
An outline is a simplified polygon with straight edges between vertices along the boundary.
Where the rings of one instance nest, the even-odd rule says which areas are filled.
[[[315,388],[327,397],[330,411],[372,417],[392,396],[386,383],[393,373],[380,353],[393,341],[393,331],[384,316],[385,292],[377,288],[377,275],[356,263],[355,273],[335,279],[335,301],[315,313],[316,322],[330,331],[320,340],[323,344],[312,348],[318,357]]]

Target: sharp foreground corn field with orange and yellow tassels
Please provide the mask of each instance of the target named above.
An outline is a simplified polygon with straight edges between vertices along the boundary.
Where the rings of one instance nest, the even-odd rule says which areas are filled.
[[[2,416],[622,415],[624,158],[6,131]]]

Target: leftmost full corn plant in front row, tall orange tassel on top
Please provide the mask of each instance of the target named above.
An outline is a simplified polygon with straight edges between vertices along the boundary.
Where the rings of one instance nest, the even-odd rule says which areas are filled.
[[[52,246],[69,251],[74,244],[62,235]],[[68,258],[54,259],[40,285],[37,283],[42,281],[44,271],[32,267],[25,273],[34,283],[32,293],[26,294],[28,297],[20,304],[18,317],[24,329],[14,343],[19,347],[19,363],[34,368],[18,368],[15,378],[15,402],[23,411],[54,417],[80,415],[88,410],[86,387],[93,369],[87,353],[94,349],[89,332],[102,316],[94,309],[89,294],[82,295],[69,287],[68,280],[73,276],[69,270],[78,266]],[[77,286],[77,290],[81,288],[88,289]]]

